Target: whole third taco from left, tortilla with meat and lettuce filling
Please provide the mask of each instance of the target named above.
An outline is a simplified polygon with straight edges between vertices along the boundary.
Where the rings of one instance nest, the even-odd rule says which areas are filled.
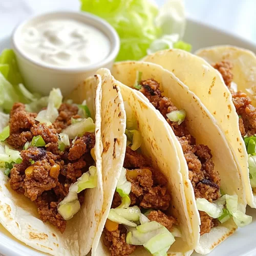
[[[238,226],[251,222],[244,214],[243,183],[224,135],[199,98],[162,67],[120,62],[114,65],[113,76],[134,88],[164,119],[187,187],[195,250],[209,253]]]

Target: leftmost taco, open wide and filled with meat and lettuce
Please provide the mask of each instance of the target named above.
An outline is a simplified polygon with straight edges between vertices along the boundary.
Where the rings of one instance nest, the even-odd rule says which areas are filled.
[[[1,113],[0,223],[39,251],[85,255],[103,204],[101,77],[65,103],[59,89],[41,101],[39,113],[38,102]]]

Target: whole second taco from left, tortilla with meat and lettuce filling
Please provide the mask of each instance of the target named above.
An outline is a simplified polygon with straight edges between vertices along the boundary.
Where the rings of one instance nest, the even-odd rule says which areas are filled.
[[[165,120],[109,70],[97,73],[104,200],[92,255],[166,255],[169,248],[172,255],[190,255],[193,228]]]

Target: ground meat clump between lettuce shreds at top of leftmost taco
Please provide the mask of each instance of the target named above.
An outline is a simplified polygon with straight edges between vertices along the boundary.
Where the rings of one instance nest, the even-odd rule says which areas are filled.
[[[80,116],[77,115],[78,108],[76,105],[62,103],[58,111],[59,115],[53,123],[53,126],[57,130],[57,133],[60,133],[61,130],[65,129],[71,124],[71,117],[73,117],[74,119],[80,118]]]

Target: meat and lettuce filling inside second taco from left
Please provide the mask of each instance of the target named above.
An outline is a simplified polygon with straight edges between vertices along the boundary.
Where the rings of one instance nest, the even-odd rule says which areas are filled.
[[[128,117],[132,114],[128,108],[125,104],[126,129],[132,120]],[[140,133],[126,130],[125,134],[125,159],[105,223],[104,243],[111,255],[129,255],[138,246],[144,246],[154,255],[166,255],[175,242],[174,234],[181,236],[178,221],[169,211],[173,206],[167,179],[140,153]]]

